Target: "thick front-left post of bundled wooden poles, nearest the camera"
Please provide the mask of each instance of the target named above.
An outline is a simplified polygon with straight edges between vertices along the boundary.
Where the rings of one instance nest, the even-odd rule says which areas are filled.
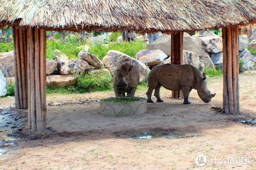
[[[46,128],[46,30],[27,30],[28,47],[28,116],[32,130]]]

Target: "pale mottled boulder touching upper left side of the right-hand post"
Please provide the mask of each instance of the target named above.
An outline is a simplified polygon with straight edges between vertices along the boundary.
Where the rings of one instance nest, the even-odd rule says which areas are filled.
[[[222,38],[214,36],[198,36],[201,39],[203,48],[209,53],[219,53],[223,51]]]

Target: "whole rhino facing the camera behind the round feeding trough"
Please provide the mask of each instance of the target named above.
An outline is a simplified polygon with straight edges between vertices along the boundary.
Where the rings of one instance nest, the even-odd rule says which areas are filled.
[[[113,88],[116,97],[134,96],[139,84],[139,70],[128,62],[118,66],[113,74]]]

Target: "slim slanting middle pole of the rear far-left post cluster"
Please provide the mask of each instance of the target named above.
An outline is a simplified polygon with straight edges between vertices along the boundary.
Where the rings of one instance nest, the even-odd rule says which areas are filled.
[[[26,99],[26,77],[25,77],[25,60],[24,60],[24,52],[23,52],[23,40],[22,40],[22,30],[21,28],[18,29],[19,31],[19,39],[20,39],[20,64],[21,64],[21,85],[22,85],[22,102],[23,108],[27,108],[27,99]]]

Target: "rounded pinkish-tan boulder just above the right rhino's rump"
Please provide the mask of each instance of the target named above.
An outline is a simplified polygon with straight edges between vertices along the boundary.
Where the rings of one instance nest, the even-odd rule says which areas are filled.
[[[136,54],[136,59],[140,62],[146,63],[148,60],[148,66],[161,64],[165,58],[167,55],[161,50],[140,50]]]

